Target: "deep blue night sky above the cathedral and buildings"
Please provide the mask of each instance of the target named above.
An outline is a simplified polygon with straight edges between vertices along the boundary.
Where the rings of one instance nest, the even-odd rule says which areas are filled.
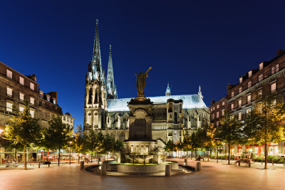
[[[135,97],[135,72],[151,65],[146,96],[197,93],[207,106],[228,83],[285,48],[284,1],[1,1],[0,61],[36,74],[83,125],[85,76],[99,19],[103,66],[112,44],[118,96]]]

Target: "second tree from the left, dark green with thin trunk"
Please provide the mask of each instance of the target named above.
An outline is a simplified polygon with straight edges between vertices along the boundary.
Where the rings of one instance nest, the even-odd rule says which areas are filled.
[[[72,127],[64,124],[57,115],[48,122],[49,127],[43,129],[43,146],[47,149],[58,149],[58,166],[61,158],[61,149],[71,141]]]

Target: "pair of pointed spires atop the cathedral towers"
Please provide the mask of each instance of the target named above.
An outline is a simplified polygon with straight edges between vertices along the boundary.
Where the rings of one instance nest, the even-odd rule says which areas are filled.
[[[101,61],[101,52],[100,52],[100,42],[99,42],[99,29],[98,29],[98,19],[96,19],[96,31],[94,39],[94,48],[92,62],[88,65],[88,74],[86,80],[98,80],[101,85],[105,85],[107,88],[107,97],[109,99],[118,98],[117,89],[114,81],[113,74],[113,60],[111,54],[111,45],[108,61],[108,73],[107,73],[107,83],[105,83],[105,70]]]

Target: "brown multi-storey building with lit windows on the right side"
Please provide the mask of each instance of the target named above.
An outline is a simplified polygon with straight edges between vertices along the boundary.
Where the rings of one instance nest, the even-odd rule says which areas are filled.
[[[249,70],[244,76],[239,78],[239,83],[227,85],[227,95],[221,100],[214,100],[210,105],[211,125],[219,127],[219,118],[224,115],[224,112],[232,112],[237,115],[239,120],[244,120],[252,108],[257,94],[269,95],[277,93],[284,101],[285,97],[285,51],[279,50],[276,56],[269,61],[259,63],[257,69]],[[263,150],[262,146],[255,144],[255,151],[260,154]],[[237,147],[233,148],[234,153],[246,152],[252,147]],[[270,151],[272,150],[272,151]],[[269,153],[284,154],[284,142],[279,144],[269,144]]]

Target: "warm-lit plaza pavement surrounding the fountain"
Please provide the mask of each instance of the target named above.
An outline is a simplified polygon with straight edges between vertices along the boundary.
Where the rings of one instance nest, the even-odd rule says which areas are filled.
[[[172,159],[182,163],[182,159]],[[188,161],[195,167],[194,160]],[[233,163],[233,162],[232,162]],[[86,164],[91,165],[91,164]],[[283,164],[252,164],[251,168],[234,167],[227,162],[202,162],[202,172],[184,176],[98,176],[78,171],[78,164],[57,167],[23,166],[5,168],[0,166],[0,189],[285,189]]]

